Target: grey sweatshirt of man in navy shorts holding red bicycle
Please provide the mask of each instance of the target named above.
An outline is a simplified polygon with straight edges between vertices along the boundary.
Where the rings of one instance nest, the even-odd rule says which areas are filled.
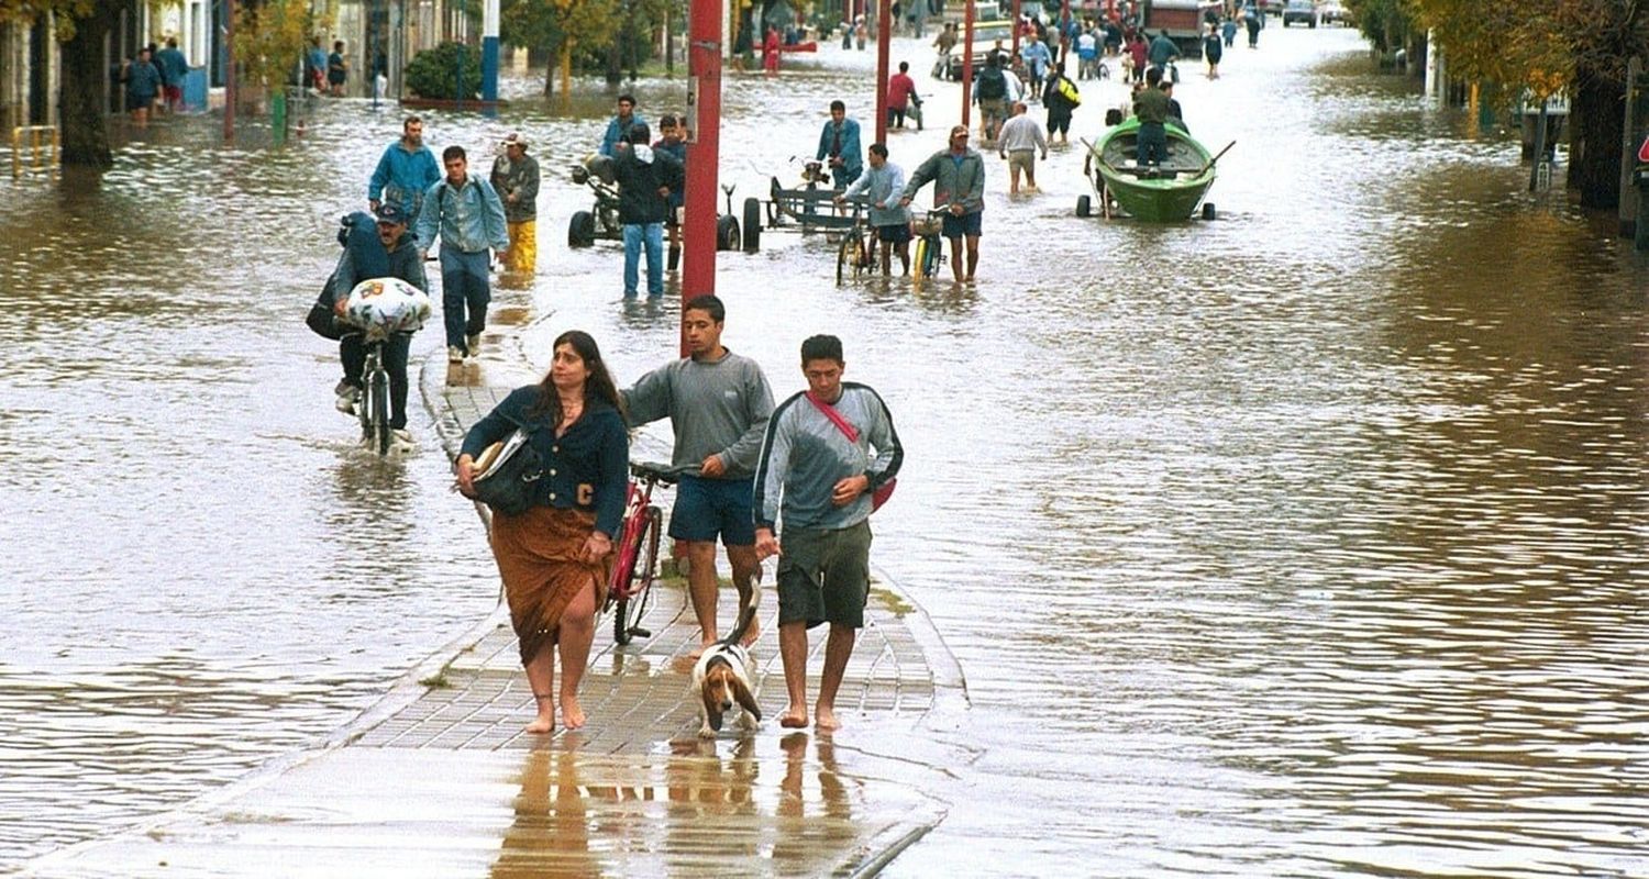
[[[620,392],[632,425],[663,417],[676,434],[669,463],[698,473],[704,458],[717,455],[721,478],[747,478],[762,452],[773,391],[762,366],[727,351],[721,360],[683,358],[641,376]]]

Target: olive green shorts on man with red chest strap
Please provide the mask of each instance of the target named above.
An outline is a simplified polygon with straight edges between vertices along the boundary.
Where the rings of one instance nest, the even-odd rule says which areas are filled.
[[[778,556],[778,625],[864,628],[871,594],[871,521],[841,529],[785,528]]]

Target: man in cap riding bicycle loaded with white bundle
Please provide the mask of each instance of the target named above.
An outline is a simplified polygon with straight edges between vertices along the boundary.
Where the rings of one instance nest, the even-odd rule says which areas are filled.
[[[376,231],[376,234],[374,234]],[[429,292],[424,275],[424,252],[407,234],[407,214],[392,203],[378,206],[376,221],[371,214],[353,213],[343,219],[338,231],[343,256],[331,274],[327,289],[333,310],[343,315],[345,300],[356,284],[373,277],[397,277],[419,290]],[[389,373],[389,429],[396,442],[412,445],[407,432],[407,351],[412,333],[391,333],[384,340],[384,369]],[[343,379],[336,386],[338,411],[353,416],[361,396],[361,373],[366,368],[366,340],[361,333],[348,333],[338,340],[338,360],[343,363]]]

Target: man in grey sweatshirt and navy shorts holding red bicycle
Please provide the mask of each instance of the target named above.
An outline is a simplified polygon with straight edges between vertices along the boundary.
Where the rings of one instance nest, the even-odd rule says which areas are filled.
[[[754,360],[722,345],[726,320],[727,308],[714,295],[689,300],[681,318],[689,356],[653,369],[620,394],[632,425],[669,417],[676,434],[671,465],[683,477],[669,536],[686,546],[688,592],[701,640],[694,656],[719,640],[716,538],[727,548],[732,582],[744,602],[747,584],[760,572],[750,480],[773,414],[773,391]],[[752,623],[744,643],[759,633],[760,625]]]

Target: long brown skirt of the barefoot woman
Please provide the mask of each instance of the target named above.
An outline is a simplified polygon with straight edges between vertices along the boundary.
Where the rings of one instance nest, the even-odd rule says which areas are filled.
[[[579,561],[595,515],[534,506],[519,516],[493,516],[493,557],[505,579],[510,622],[521,643],[521,665],[557,642],[561,613],[580,589],[595,585],[595,610],[607,600],[607,561]]]

